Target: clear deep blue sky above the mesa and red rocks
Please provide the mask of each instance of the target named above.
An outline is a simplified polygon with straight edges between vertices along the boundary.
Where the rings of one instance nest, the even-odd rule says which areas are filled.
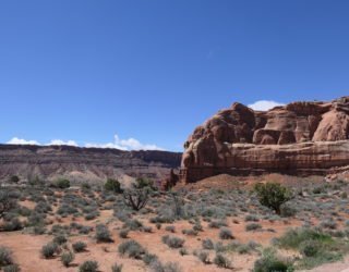
[[[340,0],[1,1],[0,143],[182,150],[233,101],[349,95],[348,12]]]

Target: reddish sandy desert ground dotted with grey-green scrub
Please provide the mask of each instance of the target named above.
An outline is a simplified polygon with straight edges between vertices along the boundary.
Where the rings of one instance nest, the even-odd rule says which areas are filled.
[[[269,182],[292,194],[279,212],[254,189]],[[0,188],[13,201],[0,220],[0,271],[349,268],[349,185],[340,180],[219,175],[169,191],[136,184],[128,191],[146,191],[140,210],[104,184],[63,187]]]

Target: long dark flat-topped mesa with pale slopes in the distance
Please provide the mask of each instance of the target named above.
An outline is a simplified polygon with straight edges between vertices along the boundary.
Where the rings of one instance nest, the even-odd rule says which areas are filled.
[[[167,151],[122,151],[118,149],[70,146],[0,145],[0,181],[19,175],[98,182],[117,177],[128,182],[136,176],[156,181],[167,177],[180,165],[181,153]]]

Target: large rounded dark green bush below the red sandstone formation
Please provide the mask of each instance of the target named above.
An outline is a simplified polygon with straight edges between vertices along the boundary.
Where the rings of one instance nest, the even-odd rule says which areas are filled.
[[[290,189],[278,183],[258,183],[254,186],[254,191],[261,205],[275,210],[278,214],[280,213],[280,206],[292,199]]]

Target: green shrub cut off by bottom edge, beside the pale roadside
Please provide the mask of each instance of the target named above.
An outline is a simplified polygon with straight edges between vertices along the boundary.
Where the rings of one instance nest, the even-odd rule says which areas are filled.
[[[293,265],[290,261],[282,260],[276,256],[275,250],[266,249],[261,259],[254,262],[253,272],[291,272]]]

